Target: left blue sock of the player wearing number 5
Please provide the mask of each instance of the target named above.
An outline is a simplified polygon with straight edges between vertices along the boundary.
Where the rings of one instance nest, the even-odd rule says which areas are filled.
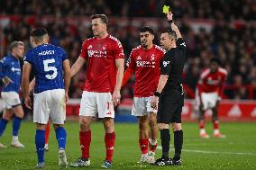
[[[44,145],[45,145],[45,130],[36,130],[35,133],[35,146],[38,157],[38,163],[44,162]]]

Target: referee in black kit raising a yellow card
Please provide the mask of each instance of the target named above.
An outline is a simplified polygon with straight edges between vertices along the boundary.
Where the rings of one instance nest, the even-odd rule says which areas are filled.
[[[160,79],[151,107],[157,108],[157,121],[160,129],[162,157],[156,160],[154,166],[180,166],[183,131],[181,128],[181,111],[184,105],[182,71],[186,58],[186,45],[178,27],[172,20],[173,14],[167,13],[170,23],[169,30],[161,33],[160,45],[168,50],[160,61]],[[173,126],[175,154],[169,158],[169,123]]]

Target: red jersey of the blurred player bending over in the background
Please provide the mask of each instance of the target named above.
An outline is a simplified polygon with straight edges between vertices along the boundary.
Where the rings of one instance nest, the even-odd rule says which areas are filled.
[[[222,93],[222,88],[227,76],[227,71],[219,67],[215,73],[211,73],[210,68],[203,70],[197,83],[199,94],[201,93]]]

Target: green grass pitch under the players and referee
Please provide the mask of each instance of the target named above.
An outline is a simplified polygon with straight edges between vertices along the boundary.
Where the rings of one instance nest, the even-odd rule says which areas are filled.
[[[0,149],[0,169],[33,169],[36,165],[34,145],[35,125],[32,122],[23,122],[20,131],[20,140],[25,145],[23,149],[11,148],[11,123],[7,125],[1,142],[8,148]],[[80,157],[78,140],[78,122],[68,122],[68,142],[66,152],[69,162]],[[206,127],[209,134],[212,132],[211,123]],[[184,151],[182,166],[148,166],[137,164],[140,158],[138,148],[138,130],[135,123],[116,123],[116,145],[114,148],[113,169],[256,169],[256,124],[248,122],[222,123],[221,130],[226,139],[199,139],[196,123],[184,123]],[[100,169],[105,158],[104,130],[101,122],[92,125],[91,166],[82,169]],[[171,145],[173,148],[173,135]],[[50,130],[50,151],[45,153],[46,168],[59,169],[58,149],[54,130]],[[160,138],[159,138],[160,143]],[[206,151],[206,152],[204,152]],[[202,153],[204,152],[204,153]],[[157,150],[160,157],[161,150]],[[170,151],[172,156],[173,150]],[[69,169],[72,169],[69,167]],[[79,169],[79,168],[78,168]]]

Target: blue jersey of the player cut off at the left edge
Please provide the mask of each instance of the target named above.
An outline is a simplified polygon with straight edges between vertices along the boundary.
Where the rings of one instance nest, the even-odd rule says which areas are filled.
[[[3,86],[2,92],[19,92],[21,86],[21,64],[18,58],[11,55],[0,60],[0,78],[8,76],[14,83]]]

